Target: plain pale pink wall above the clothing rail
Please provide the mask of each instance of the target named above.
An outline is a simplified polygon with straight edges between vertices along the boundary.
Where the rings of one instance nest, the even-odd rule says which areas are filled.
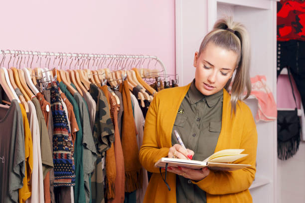
[[[174,0],[1,3],[0,49],[157,56],[175,73]]]

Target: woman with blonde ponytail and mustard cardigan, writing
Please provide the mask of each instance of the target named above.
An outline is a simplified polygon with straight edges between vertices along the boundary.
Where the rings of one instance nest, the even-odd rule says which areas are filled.
[[[231,18],[220,19],[195,53],[195,79],[185,87],[160,91],[146,117],[140,161],[150,172],[145,203],[251,203],[256,172],[257,131],[249,107],[241,100],[251,92],[250,39]],[[231,83],[232,93],[226,89]],[[187,148],[178,144],[177,130]],[[233,171],[168,168],[164,184],[154,164],[162,157],[204,160],[223,149],[245,149],[235,161],[251,167]],[[163,171],[164,172],[164,171]]]

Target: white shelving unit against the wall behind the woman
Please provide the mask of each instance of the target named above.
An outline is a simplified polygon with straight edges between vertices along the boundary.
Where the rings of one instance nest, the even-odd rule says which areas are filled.
[[[176,0],[176,72],[180,86],[192,81],[194,53],[217,18],[231,15],[243,23],[251,38],[251,77],[265,75],[276,98],[276,0]],[[257,112],[257,101],[246,103]],[[250,187],[254,203],[278,203],[277,123],[257,123],[256,178]]]

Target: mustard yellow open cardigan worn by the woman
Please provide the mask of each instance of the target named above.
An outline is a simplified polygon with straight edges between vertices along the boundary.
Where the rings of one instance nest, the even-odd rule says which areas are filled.
[[[190,84],[160,91],[148,110],[140,162],[153,174],[144,203],[176,203],[176,175],[167,174],[167,183],[171,188],[168,191],[159,169],[154,168],[154,163],[167,156],[176,114],[189,86]],[[233,172],[210,171],[203,180],[193,182],[206,192],[207,203],[252,203],[248,189],[256,172],[256,125],[250,108],[244,102],[239,101],[236,113],[231,115],[230,97],[224,90],[221,132],[215,152],[223,149],[245,149],[243,153],[248,156],[234,163],[250,164],[251,167]]]

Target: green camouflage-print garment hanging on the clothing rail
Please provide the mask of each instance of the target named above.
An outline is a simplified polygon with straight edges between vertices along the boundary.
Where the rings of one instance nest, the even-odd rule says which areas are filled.
[[[91,84],[89,90],[96,102],[96,114],[93,128],[93,138],[98,157],[95,163],[95,171],[91,178],[92,203],[104,203],[104,173],[102,170],[102,158],[105,151],[114,142],[114,126],[110,117],[110,109],[102,90]]]

